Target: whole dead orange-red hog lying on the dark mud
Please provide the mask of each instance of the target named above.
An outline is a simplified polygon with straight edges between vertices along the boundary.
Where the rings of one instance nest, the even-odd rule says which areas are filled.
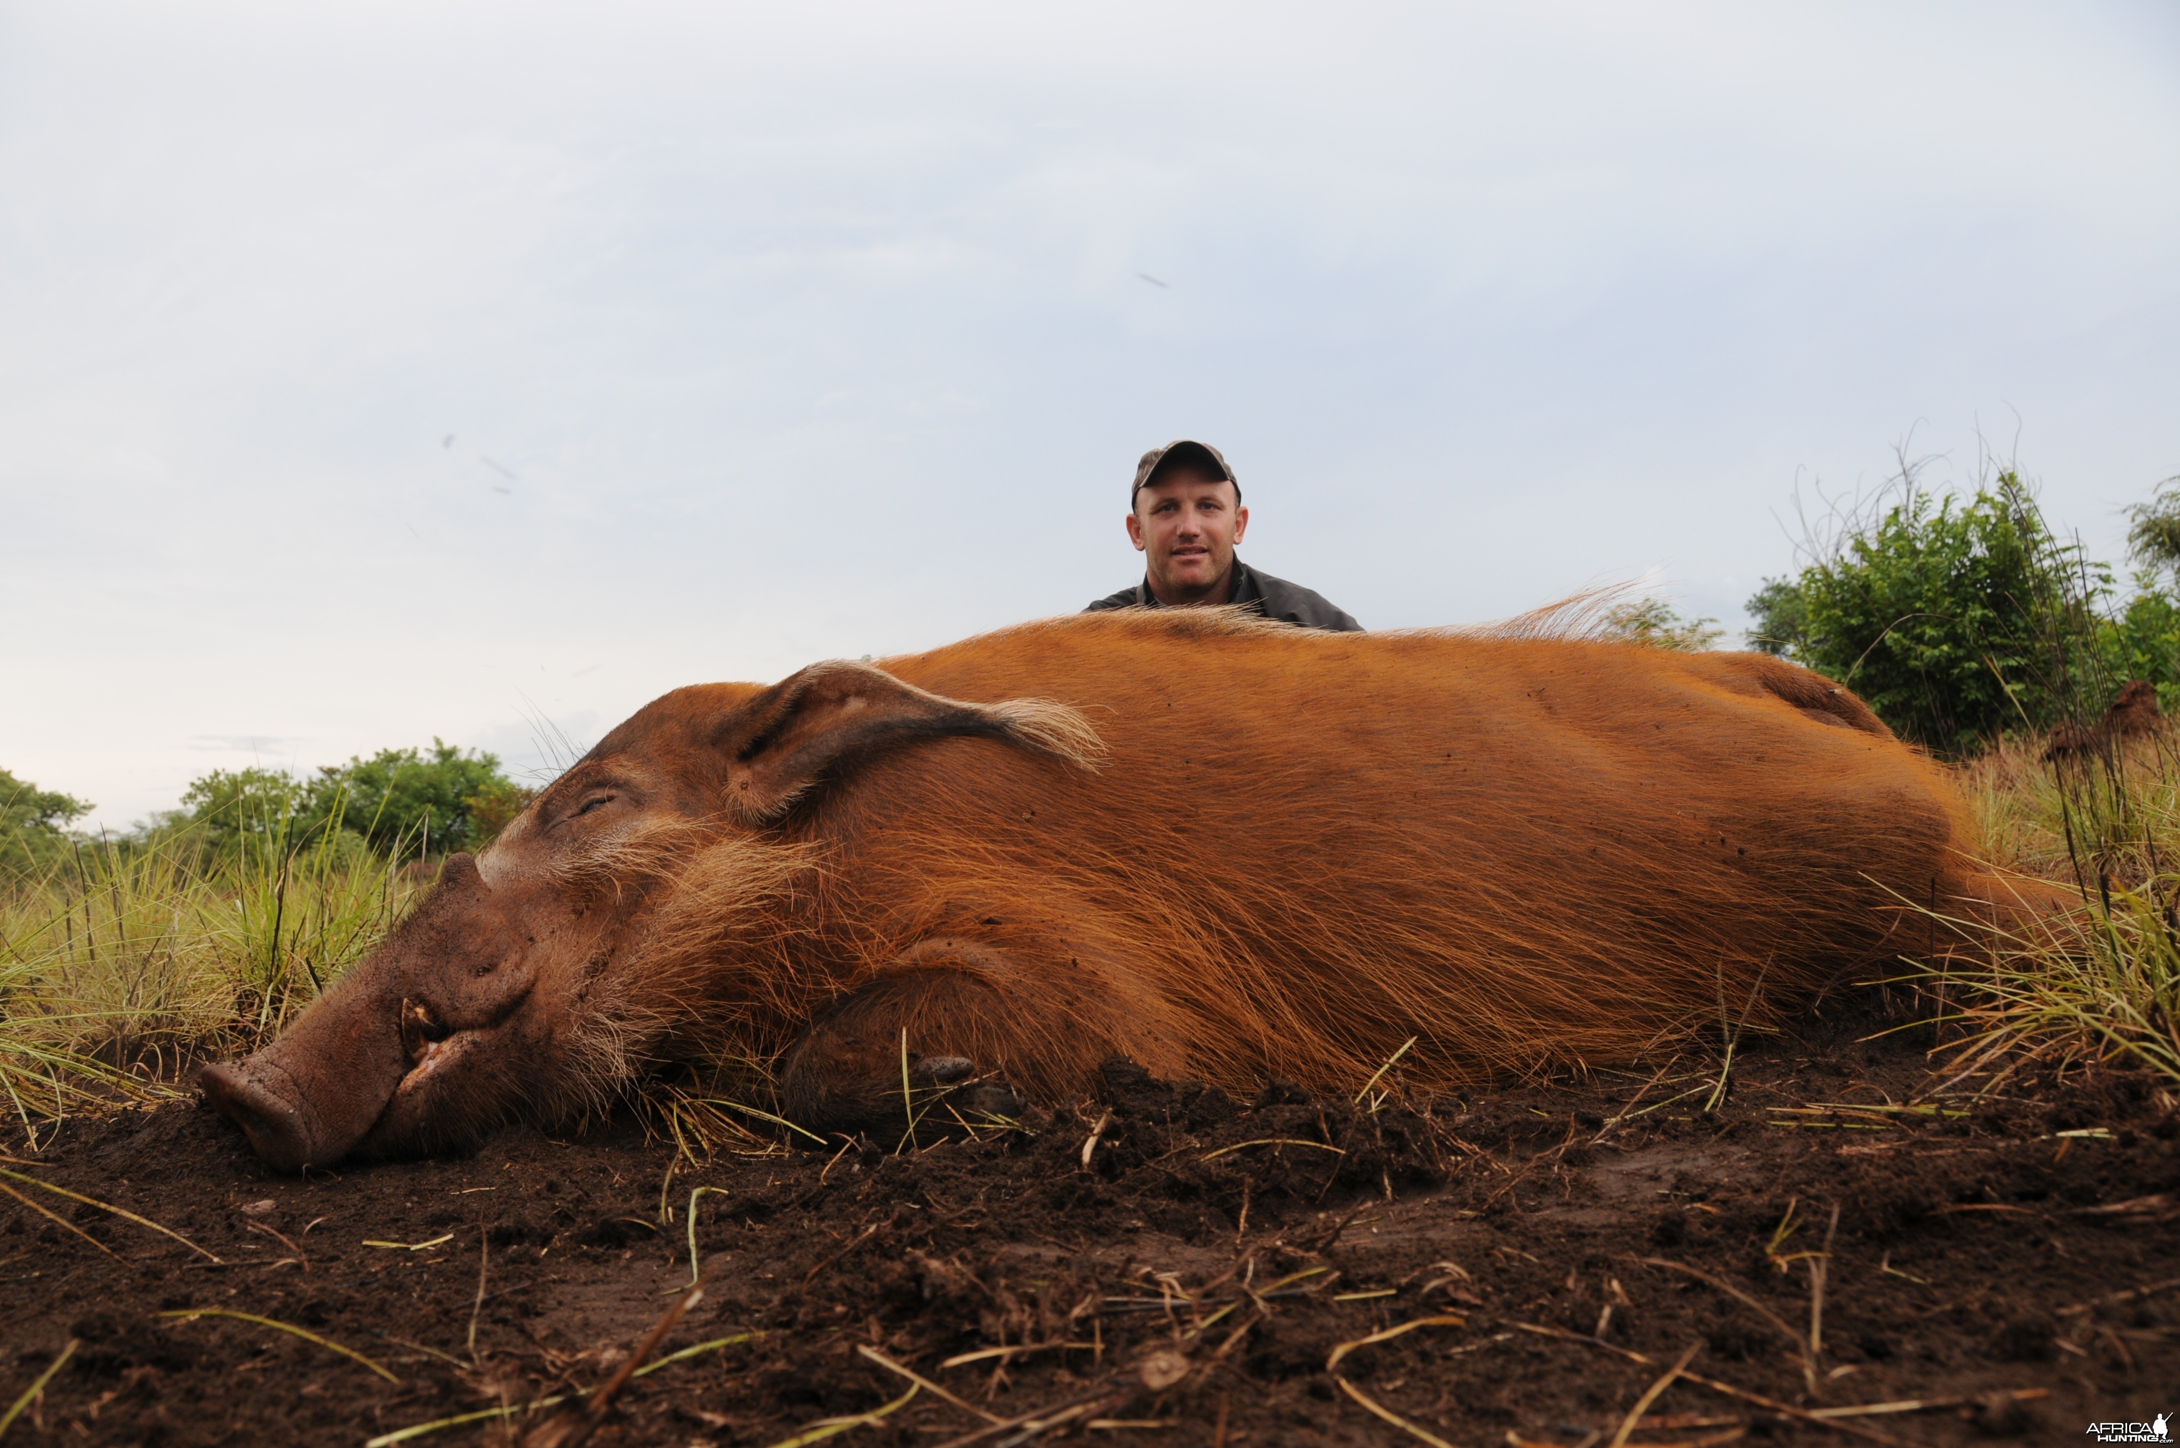
[[[1354,1090],[1415,1036],[1410,1086],[1474,1086],[1960,944],[1914,907],[1990,918],[1973,846],[1764,654],[1081,615],[667,693],[203,1086],[288,1171],[676,1060],[892,1136],[905,1090],[1007,1112],[1114,1055]]]

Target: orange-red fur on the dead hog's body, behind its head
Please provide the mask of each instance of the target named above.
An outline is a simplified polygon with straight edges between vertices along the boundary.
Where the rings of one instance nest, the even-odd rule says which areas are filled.
[[[680,1049],[776,1058],[846,1001],[865,1066],[905,1027],[1038,1095],[1112,1053],[1358,1084],[1408,1036],[1413,1079],[1476,1082],[1775,1021],[1934,944],[1908,903],[1990,909],[1940,765],[1761,654],[1168,611],[881,667],[1070,704],[1110,759],[931,739],[835,770],[730,831],[807,861],[761,927],[741,901],[759,949],[704,929],[691,855],[626,979],[682,1003]],[[682,689],[600,752],[743,698]]]

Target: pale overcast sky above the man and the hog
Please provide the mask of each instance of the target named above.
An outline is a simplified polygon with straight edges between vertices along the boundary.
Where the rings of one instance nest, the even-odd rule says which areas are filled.
[[[1373,628],[2180,473],[2180,9],[0,2],[0,765],[541,763],[1140,578]],[[1785,523],[1783,523],[1783,521]]]

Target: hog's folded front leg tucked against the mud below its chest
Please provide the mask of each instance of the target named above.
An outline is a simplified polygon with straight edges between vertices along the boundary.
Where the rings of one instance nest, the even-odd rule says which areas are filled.
[[[913,1117],[929,1141],[959,1119],[1018,1114],[1022,1093],[1090,1095],[1114,1055],[1182,1069],[1164,1014],[1079,957],[1036,970],[974,942],[924,942],[811,1023],[787,1053],[780,1095],[787,1117],[820,1134],[892,1145]]]

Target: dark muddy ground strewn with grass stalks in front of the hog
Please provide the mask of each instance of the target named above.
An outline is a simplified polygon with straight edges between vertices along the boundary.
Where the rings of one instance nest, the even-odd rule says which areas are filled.
[[[7,1444],[560,1433],[523,1404],[602,1387],[680,1300],[698,1186],[706,1291],[641,1361],[728,1341],[628,1378],[593,1444],[2080,1444],[2176,1413],[2171,1095],[1921,1095],[1927,1038],[1864,1040],[1873,1010],[1742,1051],[1709,1112],[1718,1064],[1683,1058],[1376,1110],[1116,1066],[1029,1132],[700,1167],[632,1121],[307,1182],[196,1106],[17,1132],[0,1411],[76,1348]],[[1842,1413],[1899,1402],[1927,1407]]]

